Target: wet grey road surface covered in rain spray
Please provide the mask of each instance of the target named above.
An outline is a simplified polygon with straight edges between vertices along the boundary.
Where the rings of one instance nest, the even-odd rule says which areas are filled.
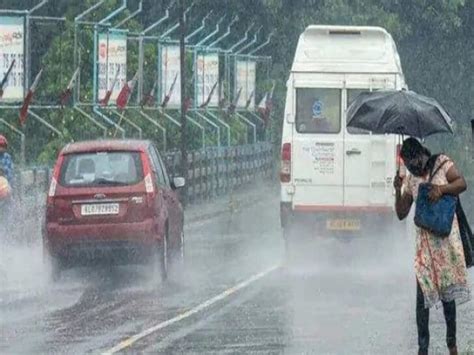
[[[143,267],[47,284],[39,247],[2,246],[0,353],[416,352],[408,240],[391,256],[370,241],[305,242],[287,265],[277,198],[188,225],[186,236],[186,264],[158,287]],[[433,310],[439,353],[444,331]],[[458,307],[458,339],[474,352],[474,302]]]

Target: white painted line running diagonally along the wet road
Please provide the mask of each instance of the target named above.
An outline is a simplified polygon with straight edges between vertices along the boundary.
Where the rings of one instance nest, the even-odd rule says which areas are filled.
[[[173,324],[175,324],[175,323],[177,323],[177,322],[179,322],[183,319],[189,318],[192,315],[194,315],[196,313],[199,313],[199,312],[205,310],[206,308],[209,308],[213,304],[215,304],[219,301],[222,301],[223,299],[233,295],[237,291],[240,291],[240,290],[250,286],[254,282],[264,278],[265,276],[267,276],[271,272],[277,270],[279,267],[280,267],[279,265],[274,265],[274,266],[272,266],[271,268],[269,268],[267,270],[264,270],[264,271],[262,271],[258,274],[255,274],[252,277],[248,278],[247,280],[242,281],[241,283],[239,283],[239,284],[237,284],[237,285],[235,285],[231,288],[228,288],[227,290],[225,290],[221,294],[219,294],[217,296],[214,296],[213,298],[197,305],[196,307],[191,308],[190,310],[188,310],[184,313],[181,313],[181,314],[177,315],[174,318],[168,319],[167,321],[159,323],[159,324],[157,324],[157,325],[155,325],[151,328],[145,329],[141,333],[138,333],[136,335],[131,336],[128,339],[125,339],[125,340],[121,341],[119,344],[117,344],[113,348],[110,348],[109,350],[104,351],[102,354],[104,354],[104,355],[116,354],[119,351],[125,350],[126,348],[129,348],[130,346],[132,346],[134,343],[136,343],[140,339],[143,339],[143,338],[157,332],[158,330],[169,327],[170,325],[173,325]]]

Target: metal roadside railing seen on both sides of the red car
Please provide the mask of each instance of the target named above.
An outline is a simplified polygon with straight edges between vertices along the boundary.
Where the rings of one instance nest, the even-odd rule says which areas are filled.
[[[181,175],[181,155],[166,152],[162,158],[170,177]],[[273,168],[272,145],[262,142],[246,146],[213,147],[188,153],[187,202],[199,203],[231,194],[258,178],[269,178]],[[16,172],[14,182],[14,223],[21,235],[43,224],[50,167],[34,167]]]

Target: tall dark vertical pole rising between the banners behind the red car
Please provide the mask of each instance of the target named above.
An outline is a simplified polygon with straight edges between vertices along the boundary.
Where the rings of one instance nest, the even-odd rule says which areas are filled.
[[[179,0],[179,49],[180,49],[180,73],[181,73],[181,174],[188,177],[188,153],[186,149],[186,23],[184,14],[184,3],[186,0]],[[183,189],[183,203],[187,202],[187,187]]]

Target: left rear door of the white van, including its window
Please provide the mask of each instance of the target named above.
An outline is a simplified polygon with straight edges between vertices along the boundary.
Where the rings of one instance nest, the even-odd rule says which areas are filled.
[[[342,89],[297,87],[292,139],[295,209],[342,206]]]

